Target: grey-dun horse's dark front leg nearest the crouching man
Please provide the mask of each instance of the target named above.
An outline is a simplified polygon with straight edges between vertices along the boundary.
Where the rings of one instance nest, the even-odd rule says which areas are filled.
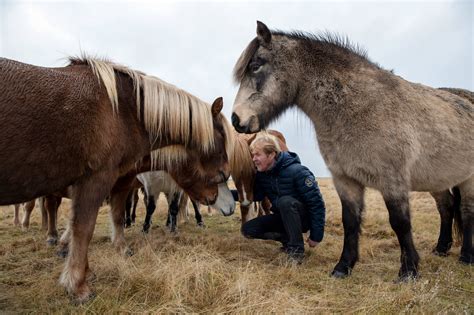
[[[350,275],[359,259],[359,233],[362,211],[364,210],[364,186],[346,177],[334,177],[333,181],[342,204],[344,247],[332,276],[343,278]]]

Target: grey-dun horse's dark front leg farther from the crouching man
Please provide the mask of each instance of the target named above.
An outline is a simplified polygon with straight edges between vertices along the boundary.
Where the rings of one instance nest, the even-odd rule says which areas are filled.
[[[382,193],[382,195],[388,209],[390,225],[397,234],[400,243],[401,267],[398,277],[402,281],[416,278],[420,258],[413,244],[408,190],[392,188],[390,191]]]

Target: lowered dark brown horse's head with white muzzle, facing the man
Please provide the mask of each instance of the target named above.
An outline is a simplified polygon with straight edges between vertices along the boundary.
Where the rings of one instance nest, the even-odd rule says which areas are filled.
[[[179,166],[170,167],[167,171],[192,199],[210,205],[227,216],[235,210],[235,201],[226,183],[230,176],[227,152],[232,145],[229,143],[232,134],[229,123],[220,113],[222,106],[220,97],[211,108],[213,145],[208,150],[186,147],[185,158]]]

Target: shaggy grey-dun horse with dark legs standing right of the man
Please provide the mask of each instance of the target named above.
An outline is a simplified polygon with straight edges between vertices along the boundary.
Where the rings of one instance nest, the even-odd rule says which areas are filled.
[[[381,192],[401,249],[399,279],[418,275],[409,191],[460,192],[460,261],[473,263],[473,104],[415,84],[370,61],[346,38],[270,31],[234,67],[240,84],[232,124],[243,133],[267,126],[297,106],[314,124],[320,152],[342,204],[344,246],[332,275],[346,277],[358,260],[364,190]]]

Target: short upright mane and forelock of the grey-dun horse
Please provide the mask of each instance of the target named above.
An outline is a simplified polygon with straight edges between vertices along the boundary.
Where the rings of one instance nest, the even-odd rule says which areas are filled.
[[[319,46],[324,47],[325,49],[329,50],[339,50],[346,52],[348,55],[357,57],[358,60],[362,60],[380,68],[380,66],[371,61],[367,55],[367,51],[362,48],[360,45],[352,43],[349,40],[349,37],[333,33],[329,31],[318,32],[318,33],[309,33],[303,31],[291,31],[291,32],[284,32],[280,30],[272,30],[272,36],[284,36],[290,39],[298,40],[302,42],[304,45],[308,46]],[[252,56],[259,48],[258,39],[255,37],[249,45],[245,48],[245,50],[240,55],[239,59],[237,60],[234,66],[234,81],[236,83],[240,83],[245,76],[246,69]]]

